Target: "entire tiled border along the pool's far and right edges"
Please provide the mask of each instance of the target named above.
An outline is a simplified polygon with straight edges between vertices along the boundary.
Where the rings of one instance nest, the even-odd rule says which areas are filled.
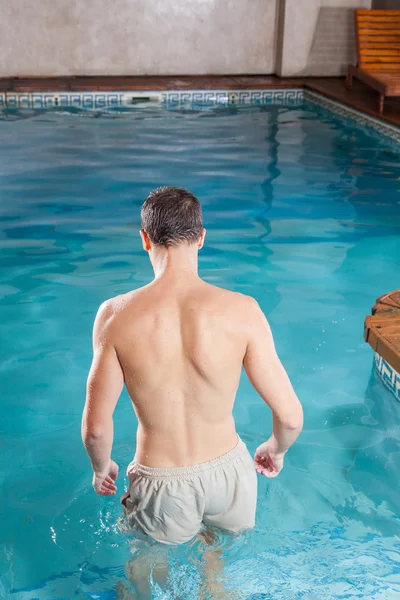
[[[78,108],[101,110],[134,106],[143,101],[160,103],[167,108],[189,104],[300,106],[304,100],[322,106],[339,116],[352,119],[359,125],[371,127],[385,137],[400,143],[400,127],[303,87],[113,92],[2,92],[0,93],[0,109]]]

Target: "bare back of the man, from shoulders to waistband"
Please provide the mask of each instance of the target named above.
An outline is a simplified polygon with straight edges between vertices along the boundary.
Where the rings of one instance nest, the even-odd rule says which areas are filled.
[[[234,446],[250,302],[174,275],[109,301],[110,339],[139,419],[139,462],[196,464]]]

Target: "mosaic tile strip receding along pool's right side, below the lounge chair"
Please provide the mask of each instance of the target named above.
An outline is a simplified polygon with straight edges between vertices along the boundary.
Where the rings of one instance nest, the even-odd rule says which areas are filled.
[[[330,98],[326,98],[326,96],[316,94],[310,90],[304,90],[304,100],[307,102],[312,102],[313,104],[317,104],[318,106],[322,106],[323,108],[327,108],[336,115],[346,119],[352,119],[353,121],[356,121],[358,125],[362,125],[363,127],[372,127],[372,129],[378,133],[400,143],[400,128],[396,127],[396,125],[385,123],[380,119],[366,115],[354,108],[350,108],[349,106],[342,104],[341,102],[336,102],[335,100],[331,100]]]

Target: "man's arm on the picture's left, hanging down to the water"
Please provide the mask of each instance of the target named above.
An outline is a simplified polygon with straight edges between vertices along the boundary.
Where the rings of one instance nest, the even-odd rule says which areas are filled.
[[[101,305],[93,328],[93,361],[86,387],[82,440],[92,463],[93,487],[101,496],[116,493],[118,465],[111,460],[113,412],[124,386],[124,375],[110,336],[113,311]]]

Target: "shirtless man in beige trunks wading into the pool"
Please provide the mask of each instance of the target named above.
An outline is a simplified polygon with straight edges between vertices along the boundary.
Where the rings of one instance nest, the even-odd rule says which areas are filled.
[[[152,283],[105,302],[94,325],[82,435],[95,491],[116,493],[113,411],[125,383],[138,417],[137,449],[122,502],[128,522],[159,542],[191,540],[202,524],[254,525],[256,471],[276,477],[303,423],[299,400],[252,298],[197,273],[200,203],[164,187],[142,207]],[[242,365],[273,411],[273,433],[254,462],[232,408]]]

